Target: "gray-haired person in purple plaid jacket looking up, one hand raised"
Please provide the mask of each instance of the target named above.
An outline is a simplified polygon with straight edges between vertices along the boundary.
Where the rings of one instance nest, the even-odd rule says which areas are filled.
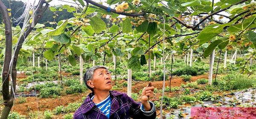
[[[125,93],[110,91],[111,75],[105,66],[93,66],[84,74],[84,83],[92,91],[78,110],[74,119],[155,119],[154,87],[143,89],[141,103],[135,102]]]

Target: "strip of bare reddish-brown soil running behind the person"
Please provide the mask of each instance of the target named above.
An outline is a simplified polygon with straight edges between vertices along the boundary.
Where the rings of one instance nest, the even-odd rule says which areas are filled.
[[[200,78],[208,78],[208,75],[198,75],[193,76],[192,81],[195,81]],[[139,92],[140,89],[143,89],[145,86],[147,86],[148,82],[136,82],[134,86],[132,86],[132,92]],[[186,84],[182,80],[182,78],[173,78],[171,81],[171,86],[181,86],[181,84]],[[157,89],[162,89],[163,81],[153,81],[152,85]],[[166,81],[166,85],[169,86],[169,80]],[[127,88],[120,89],[118,91],[127,92]],[[65,95],[61,96],[59,98],[41,98],[38,99],[38,107],[39,111],[45,111],[45,110],[53,110],[55,107],[63,105],[67,106],[69,103],[76,102],[78,100],[81,100],[82,97],[87,96],[90,91],[86,91],[81,94],[71,94],[71,95]],[[175,92],[166,92],[165,95],[169,97],[177,96],[181,93],[181,91],[175,91]],[[155,97],[152,99],[159,100],[161,93],[155,94]],[[24,103],[18,103],[18,100],[15,100],[15,105],[13,107],[13,111],[16,111],[22,115],[27,115],[29,112],[37,111],[37,101],[35,97],[26,97],[26,102]]]

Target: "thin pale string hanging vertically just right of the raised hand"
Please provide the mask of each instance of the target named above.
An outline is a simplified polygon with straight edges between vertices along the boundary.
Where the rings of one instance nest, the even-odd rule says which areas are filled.
[[[165,47],[165,19],[163,19],[163,59],[164,59],[164,47]],[[164,95],[164,86],[165,86],[165,76],[166,76],[166,68],[165,68],[165,60],[163,60],[163,90],[162,90],[162,99],[160,105],[160,118],[163,119],[163,95]]]

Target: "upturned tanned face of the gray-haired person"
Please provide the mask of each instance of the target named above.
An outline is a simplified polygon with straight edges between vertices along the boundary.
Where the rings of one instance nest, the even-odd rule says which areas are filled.
[[[91,84],[94,86],[93,90],[111,90],[112,79],[108,70],[104,68],[94,70]]]

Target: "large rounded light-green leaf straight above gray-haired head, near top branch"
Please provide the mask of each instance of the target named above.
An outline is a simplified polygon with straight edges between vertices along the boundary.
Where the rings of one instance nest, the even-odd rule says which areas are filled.
[[[93,28],[93,30],[95,31],[95,33],[101,33],[102,30],[106,29],[106,24],[102,19],[100,19],[96,16],[91,17],[89,19],[90,19],[89,23],[90,23],[91,27]]]

